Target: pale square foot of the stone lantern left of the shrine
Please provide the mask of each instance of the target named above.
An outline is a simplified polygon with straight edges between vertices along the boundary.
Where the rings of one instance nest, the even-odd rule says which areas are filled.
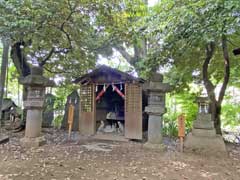
[[[20,143],[24,147],[31,148],[31,147],[39,147],[39,146],[46,144],[46,140],[45,140],[44,136],[36,137],[36,138],[24,137],[24,138],[20,139]]]

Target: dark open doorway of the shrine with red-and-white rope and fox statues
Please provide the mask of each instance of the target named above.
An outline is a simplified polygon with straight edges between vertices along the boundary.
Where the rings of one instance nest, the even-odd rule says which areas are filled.
[[[120,135],[125,132],[124,84],[96,85],[96,132]]]

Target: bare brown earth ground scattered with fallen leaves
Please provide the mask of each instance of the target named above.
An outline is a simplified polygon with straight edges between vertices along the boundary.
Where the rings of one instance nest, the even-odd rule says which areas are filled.
[[[239,180],[240,147],[228,145],[229,157],[214,158],[176,151],[143,148],[139,142],[100,141],[74,133],[45,129],[47,144],[25,149],[19,145],[23,133],[10,134],[0,145],[0,180]]]

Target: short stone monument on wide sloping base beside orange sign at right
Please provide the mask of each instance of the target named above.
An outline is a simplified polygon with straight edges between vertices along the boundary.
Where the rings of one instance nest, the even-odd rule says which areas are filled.
[[[209,99],[197,98],[198,114],[193,122],[192,132],[188,134],[184,142],[185,151],[193,151],[206,154],[226,154],[226,147],[221,135],[216,134],[211,114],[209,113]]]

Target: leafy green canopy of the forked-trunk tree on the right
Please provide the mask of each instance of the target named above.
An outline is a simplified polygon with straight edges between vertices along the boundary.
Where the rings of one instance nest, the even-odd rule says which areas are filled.
[[[205,48],[209,42],[217,45],[209,67],[210,79],[223,80],[222,35],[227,36],[232,67],[239,67],[231,49],[240,42],[240,4],[236,0],[163,0],[139,21],[141,33],[148,39],[148,55],[143,59],[143,71],[150,73],[156,66],[168,67],[178,88],[201,80]],[[221,18],[219,18],[221,17]],[[199,74],[194,76],[194,72]],[[174,72],[174,73],[172,73]],[[236,75],[236,74],[235,74]],[[234,78],[234,77],[232,77]]]

